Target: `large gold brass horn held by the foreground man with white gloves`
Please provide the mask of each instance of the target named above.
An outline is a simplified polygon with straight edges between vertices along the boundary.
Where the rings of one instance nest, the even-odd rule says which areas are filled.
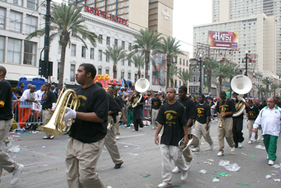
[[[78,107],[78,96],[72,89],[67,89],[60,94],[51,120],[49,120],[46,125],[39,127],[39,130],[58,137],[60,137],[62,133],[66,134],[69,132],[71,126],[67,127],[65,121],[63,121],[65,113],[67,112],[65,109],[66,107],[70,107],[74,111],[76,111],[76,108]],[[71,123],[72,121],[73,119],[70,120]]]

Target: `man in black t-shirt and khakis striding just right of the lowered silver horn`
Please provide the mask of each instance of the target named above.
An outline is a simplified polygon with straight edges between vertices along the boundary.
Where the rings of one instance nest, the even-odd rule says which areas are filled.
[[[206,142],[210,144],[210,149],[214,148],[214,142],[210,136],[210,116],[211,116],[211,108],[209,104],[204,102],[204,94],[199,95],[199,103],[195,106],[195,114],[196,114],[196,122],[195,122],[195,137],[199,140],[203,136]],[[200,146],[192,151],[200,151]]]

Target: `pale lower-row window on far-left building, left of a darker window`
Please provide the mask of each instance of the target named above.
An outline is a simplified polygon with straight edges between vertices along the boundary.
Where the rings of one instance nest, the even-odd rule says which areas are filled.
[[[8,54],[7,54],[8,63],[20,64],[20,47],[21,47],[20,40],[8,38]]]

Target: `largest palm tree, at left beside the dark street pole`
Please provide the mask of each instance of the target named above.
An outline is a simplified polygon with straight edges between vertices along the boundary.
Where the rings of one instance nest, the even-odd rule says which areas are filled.
[[[97,35],[94,32],[89,31],[84,23],[85,18],[82,18],[81,7],[77,6],[67,6],[67,4],[53,4],[53,11],[51,11],[51,26],[50,26],[50,42],[58,37],[60,39],[61,45],[61,55],[60,55],[60,73],[58,75],[58,86],[63,85],[63,75],[65,71],[65,51],[67,44],[70,43],[70,33],[72,37],[81,40],[86,45],[83,37],[89,39],[93,46],[96,46]],[[32,37],[42,37],[45,35],[45,28],[41,30],[36,30],[26,37],[27,40],[32,39]],[[83,37],[82,37],[83,36]]]

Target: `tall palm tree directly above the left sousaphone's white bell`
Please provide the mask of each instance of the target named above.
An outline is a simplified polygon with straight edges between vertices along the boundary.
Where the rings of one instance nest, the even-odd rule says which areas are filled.
[[[155,34],[154,31],[148,29],[140,30],[140,34],[133,35],[136,38],[134,41],[136,44],[133,45],[133,51],[130,55],[136,54],[139,51],[142,55],[145,55],[145,78],[148,79],[148,66],[150,62],[150,50],[157,49],[160,45],[159,36],[160,34]]]

